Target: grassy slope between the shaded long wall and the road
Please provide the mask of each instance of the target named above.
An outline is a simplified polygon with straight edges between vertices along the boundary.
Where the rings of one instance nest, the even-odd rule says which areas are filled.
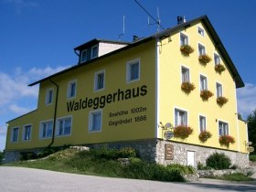
[[[118,159],[127,156],[128,164]],[[122,150],[90,150],[78,151],[68,148],[45,158],[20,161],[11,166],[47,169],[59,172],[91,176],[111,176],[137,178],[158,181],[185,181],[184,175],[195,173],[191,166],[185,165],[157,165],[148,163],[136,156],[131,148]]]

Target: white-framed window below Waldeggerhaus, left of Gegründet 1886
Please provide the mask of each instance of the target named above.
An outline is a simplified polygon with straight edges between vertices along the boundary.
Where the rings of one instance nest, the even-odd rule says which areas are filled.
[[[101,132],[102,110],[89,114],[89,132]]]

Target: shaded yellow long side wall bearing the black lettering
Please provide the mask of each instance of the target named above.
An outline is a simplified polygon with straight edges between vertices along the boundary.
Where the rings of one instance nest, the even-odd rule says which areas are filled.
[[[126,63],[133,59],[140,59],[140,80],[126,82]],[[105,71],[105,88],[102,91],[94,91],[94,74],[97,71]],[[155,138],[155,42],[144,43],[135,48],[130,48],[119,54],[113,54],[104,59],[98,59],[91,64],[72,69],[67,73],[52,78],[59,85],[59,101],[57,107],[57,119],[61,117],[72,117],[72,128],[69,136],[56,136],[53,144],[94,144],[113,141],[126,141],[136,139]],[[77,81],[76,97],[67,99],[68,83],[70,80]],[[54,102],[46,105],[46,93],[48,89],[54,89]],[[89,132],[89,113],[94,111],[92,107],[73,110],[68,112],[67,102],[95,99],[97,97],[114,94],[118,90],[139,91],[141,95],[131,99],[123,99],[111,103],[105,103],[102,110],[101,132]],[[141,90],[144,90],[143,92]],[[142,95],[143,94],[143,95]],[[128,95],[129,97],[129,95]],[[40,83],[37,111],[27,114],[9,122],[8,142],[5,150],[26,149],[46,147],[51,138],[39,139],[39,127],[41,121],[53,120],[56,98],[56,86],[49,80]],[[100,107],[98,107],[99,110]],[[124,112],[123,115],[112,116],[111,113]],[[127,119],[126,123],[114,123]],[[130,121],[130,122],[129,122]],[[10,141],[10,130],[25,123],[33,124],[32,139],[26,143],[12,143]],[[21,133],[19,133],[21,138]]]

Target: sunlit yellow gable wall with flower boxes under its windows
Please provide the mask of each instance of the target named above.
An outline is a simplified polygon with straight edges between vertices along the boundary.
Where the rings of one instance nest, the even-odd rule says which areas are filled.
[[[229,135],[238,141],[237,124],[237,101],[236,85],[232,75],[221,58],[221,63],[225,65],[226,70],[219,74],[214,67],[214,53],[218,49],[214,47],[214,42],[208,36],[206,28],[205,36],[197,32],[197,27],[204,28],[198,23],[195,26],[187,27],[186,30],[177,31],[171,37],[165,38],[159,45],[159,121],[163,123],[175,124],[175,108],[187,112],[188,125],[194,130],[186,140],[172,139],[174,141],[185,142],[188,144],[202,144],[198,139],[199,134],[199,115],[207,118],[207,130],[212,133],[204,145],[227,149],[219,144],[219,121],[229,123]],[[188,44],[195,49],[189,56],[185,56],[180,51],[180,32],[188,37]],[[206,48],[206,53],[211,57],[211,61],[206,65],[198,61],[198,43]],[[190,82],[194,83],[196,89],[189,94],[181,90],[181,67],[189,69]],[[208,78],[208,90],[214,93],[214,96],[203,101],[200,97],[200,74]],[[216,83],[222,84],[223,96],[229,101],[222,107],[217,104]],[[162,137],[159,129],[158,137]],[[230,144],[229,150],[239,150],[238,143]]]

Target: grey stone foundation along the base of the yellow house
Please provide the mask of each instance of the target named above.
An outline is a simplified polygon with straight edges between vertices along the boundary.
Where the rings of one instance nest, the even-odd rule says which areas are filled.
[[[168,145],[168,150],[166,146]],[[85,144],[90,148],[123,148],[133,147],[139,152],[139,155],[149,162],[155,162],[162,165],[169,164],[181,164],[187,165],[187,152],[194,152],[194,164],[197,167],[197,163],[205,165],[209,155],[213,153],[224,153],[228,155],[231,164],[237,165],[241,168],[249,166],[249,155],[241,154],[239,152],[221,150],[217,148],[204,147],[193,144],[182,144],[170,141],[164,141],[160,139],[144,139],[144,140],[133,140],[133,141],[121,141],[104,144]],[[38,153],[38,149],[31,150],[34,153]],[[167,155],[166,155],[167,152]],[[5,151],[5,163],[17,161],[20,158],[22,151]],[[168,154],[169,153],[169,154]]]

